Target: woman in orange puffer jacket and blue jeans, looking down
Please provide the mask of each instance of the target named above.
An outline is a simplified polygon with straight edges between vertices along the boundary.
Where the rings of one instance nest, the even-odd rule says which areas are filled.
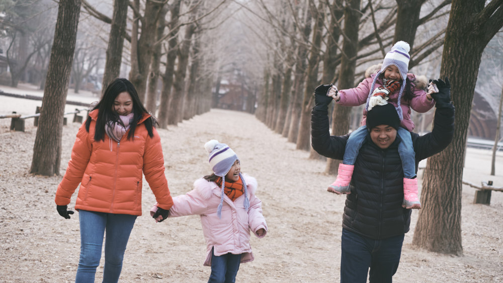
[[[116,79],[77,132],[71,160],[56,191],[58,213],[69,219],[70,197],[80,183],[80,259],[75,282],[94,282],[104,233],[104,282],[117,282],[124,251],[141,215],[142,173],[165,219],[173,205],[154,118],[126,79]],[[156,216],[156,217],[157,217]]]

